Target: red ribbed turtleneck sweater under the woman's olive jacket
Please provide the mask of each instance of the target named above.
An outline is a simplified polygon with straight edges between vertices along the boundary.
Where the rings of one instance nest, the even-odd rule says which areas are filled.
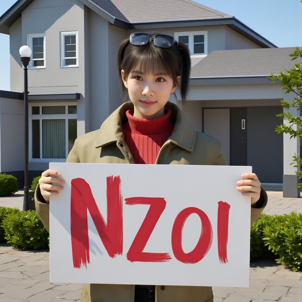
[[[126,112],[128,120],[123,124],[123,133],[136,164],[155,164],[160,148],[174,128],[170,115],[168,108],[163,116],[150,120],[134,117],[130,110]]]

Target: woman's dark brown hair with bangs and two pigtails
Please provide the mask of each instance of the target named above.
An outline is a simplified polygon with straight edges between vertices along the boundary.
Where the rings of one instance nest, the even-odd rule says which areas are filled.
[[[143,73],[167,73],[173,79],[174,85],[178,85],[177,77],[181,76],[180,94],[182,100],[186,99],[189,89],[191,59],[188,48],[183,43],[175,41],[171,47],[161,48],[155,46],[151,40],[146,45],[135,46],[129,43],[128,37],[120,44],[117,54],[117,68],[121,95],[124,100],[128,97],[128,90],[121,77],[122,69],[125,71],[125,79],[135,69]]]

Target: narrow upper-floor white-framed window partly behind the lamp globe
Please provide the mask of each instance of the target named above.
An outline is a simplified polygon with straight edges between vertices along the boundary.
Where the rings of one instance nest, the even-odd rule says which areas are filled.
[[[45,34],[28,34],[27,43],[31,48],[29,68],[46,68]]]

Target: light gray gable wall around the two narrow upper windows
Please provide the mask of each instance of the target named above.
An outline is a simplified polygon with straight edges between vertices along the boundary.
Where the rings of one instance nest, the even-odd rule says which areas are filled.
[[[33,22],[34,20],[34,22]],[[79,67],[60,67],[60,32],[78,31]],[[84,5],[78,0],[35,0],[10,28],[11,89],[22,92],[23,70],[19,48],[27,45],[27,34],[46,34],[46,68],[28,69],[30,94],[80,93],[78,101],[78,136],[90,130],[85,105]],[[21,35],[21,40],[20,40]],[[20,63],[19,63],[20,62]]]

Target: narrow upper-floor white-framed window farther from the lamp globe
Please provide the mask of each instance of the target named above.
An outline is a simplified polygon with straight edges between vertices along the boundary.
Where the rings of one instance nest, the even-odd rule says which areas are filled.
[[[64,31],[60,33],[61,67],[79,66],[79,43],[77,31]]]

